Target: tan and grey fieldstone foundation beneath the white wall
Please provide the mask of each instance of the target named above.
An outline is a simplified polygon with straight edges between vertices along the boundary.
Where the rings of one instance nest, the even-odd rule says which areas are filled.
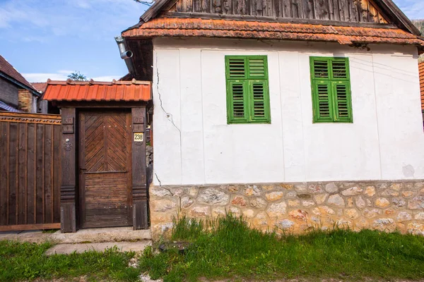
[[[424,235],[424,180],[150,188],[151,228],[159,238],[174,216],[242,215],[261,231],[302,233],[338,226]]]

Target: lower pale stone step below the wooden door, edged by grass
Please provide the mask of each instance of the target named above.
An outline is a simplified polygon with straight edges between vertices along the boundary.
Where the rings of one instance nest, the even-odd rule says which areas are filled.
[[[151,240],[139,242],[110,242],[110,243],[86,243],[86,244],[59,244],[54,245],[45,252],[46,255],[69,255],[73,252],[81,253],[89,250],[104,252],[108,248],[117,246],[120,252],[142,252],[147,246],[151,246]]]

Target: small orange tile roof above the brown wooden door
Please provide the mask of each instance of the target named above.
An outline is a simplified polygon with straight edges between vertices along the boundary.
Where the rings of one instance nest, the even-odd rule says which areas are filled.
[[[47,90],[43,99],[47,101],[149,101],[151,100],[151,82],[47,80]]]

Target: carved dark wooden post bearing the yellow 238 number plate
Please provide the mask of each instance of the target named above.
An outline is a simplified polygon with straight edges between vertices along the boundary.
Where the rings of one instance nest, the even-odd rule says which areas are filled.
[[[131,109],[133,229],[148,228],[146,185],[146,106]],[[143,140],[136,140],[142,133]],[[139,134],[137,136],[140,136]]]

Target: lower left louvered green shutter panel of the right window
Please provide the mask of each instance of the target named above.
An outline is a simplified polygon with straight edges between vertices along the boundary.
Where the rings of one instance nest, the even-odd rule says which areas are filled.
[[[314,110],[314,121],[333,121],[333,106],[331,101],[331,82],[314,81],[312,86],[312,102]]]

